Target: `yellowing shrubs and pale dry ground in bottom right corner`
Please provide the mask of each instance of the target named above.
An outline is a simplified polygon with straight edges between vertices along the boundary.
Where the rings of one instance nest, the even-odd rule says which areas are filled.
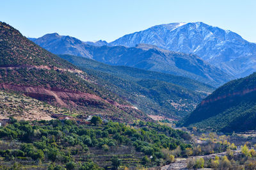
[[[195,143],[192,148],[186,148],[188,169],[256,168],[256,141],[252,137],[214,132],[202,134],[196,130],[196,127],[193,127],[191,136],[198,141],[198,144]]]

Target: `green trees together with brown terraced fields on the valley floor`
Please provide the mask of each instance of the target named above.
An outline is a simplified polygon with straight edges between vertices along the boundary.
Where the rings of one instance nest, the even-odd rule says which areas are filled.
[[[17,121],[0,128],[2,167],[100,169],[161,166],[186,153],[190,136],[156,123],[133,125],[93,117],[91,125],[71,120]]]

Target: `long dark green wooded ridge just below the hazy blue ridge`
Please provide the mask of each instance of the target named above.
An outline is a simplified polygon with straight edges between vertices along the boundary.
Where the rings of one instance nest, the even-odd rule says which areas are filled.
[[[207,84],[204,84],[187,77],[181,77],[177,75],[172,75],[168,73],[154,72],[148,70],[142,70],[139,68],[133,68],[129,66],[111,66],[99,61],[95,61],[89,58],[82,58],[78,56],[71,55],[59,55],[61,58],[66,59],[70,63],[79,66],[80,68],[88,68],[91,70],[97,70],[103,73],[109,73],[110,75],[115,75],[116,77],[125,79],[127,81],[140,81],[141,79],[158,80],[164,82],[170,82],[176,84],[183,88],[191,89],[193,91],[202,91],[206,93],[211,93],[214,88]]]

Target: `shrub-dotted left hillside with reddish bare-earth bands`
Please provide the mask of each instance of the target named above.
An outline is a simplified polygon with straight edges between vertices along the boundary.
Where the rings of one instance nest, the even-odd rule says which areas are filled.
[[[17,91],[48,104],[100,114],[119,121],[150,120],[122,98],[0,22],[0,89]]]

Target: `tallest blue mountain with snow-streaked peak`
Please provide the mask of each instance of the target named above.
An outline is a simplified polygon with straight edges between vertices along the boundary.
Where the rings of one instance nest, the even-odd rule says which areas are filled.
[[[232,31],[203,22],[161,24],[122,36],[109,45],[135,47],[140,43],[195,54],[235,77],[256,71],[255,43],[247,42]]]

